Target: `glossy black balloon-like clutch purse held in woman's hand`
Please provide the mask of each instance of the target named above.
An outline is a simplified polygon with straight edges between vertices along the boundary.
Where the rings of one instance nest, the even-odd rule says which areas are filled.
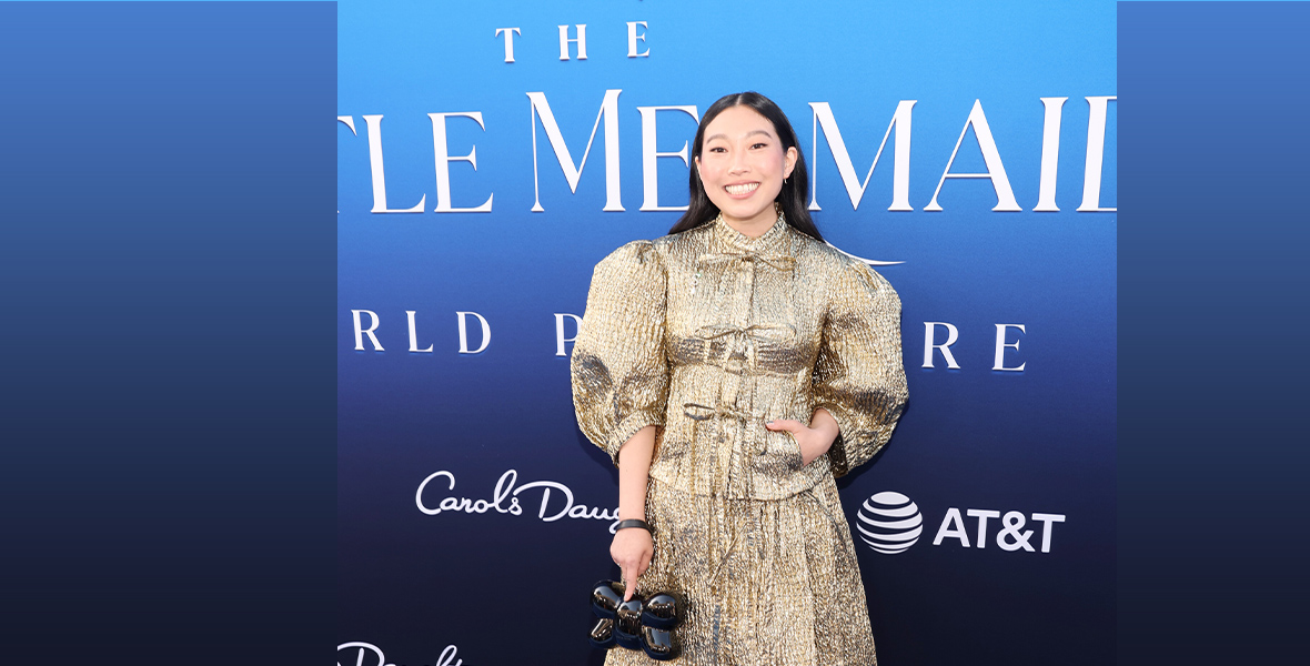
[[[591,610],[599,620],[591,629],[591,644],[603,650],[614,645],[642,650],[655,661],[676,659],[681,645],[673,629],[683,621],[684,602],[669,593],[647,598],[634,594],[624,600],[624,586],[600,581],[591,590]]]

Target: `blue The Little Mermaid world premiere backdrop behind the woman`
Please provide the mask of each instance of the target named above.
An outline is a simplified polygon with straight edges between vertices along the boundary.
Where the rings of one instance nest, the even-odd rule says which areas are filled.
[[[879,659],[1114,658],[1114,3],[338,7],[338,665],[600,663],[617,475],[569,354],[740,90],[904,303],[908,409],[838,481]]]

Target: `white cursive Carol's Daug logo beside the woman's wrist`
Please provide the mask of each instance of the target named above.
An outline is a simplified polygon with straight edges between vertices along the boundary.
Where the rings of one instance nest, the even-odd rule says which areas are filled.
[[[436,481],[438,479],[444,480],[444,482]],[[455,475],[441,469],[440,472],[432,472],[423,480],[423,482],[418,484],[418,490],[414,493],[414,503],[418,506],[419,511],[423,511],[427,515],[438,515],[443,511],[485,514],[491,510],[500,514],[523,515],[523,506],[519,503],[519,496],[527,490],[541,490],[541,505],[537,510],[537,518],[542,522],[553,523],[561,518],[610,520],[610,532],[613,532],[614,526],[618,524],[618,509],[609,510],[599,506],[579,503],[574,499],[572,490],[570,490],[565,484],[558,481],[532,481],[531,484],[523,484],[515,488],[517,480],[517,471],[506,471],[506,473],[500,475],[495,488],[491,490],[490,499],[473,499],[469,497],[457,497],[455,494],[440,497],[440,486],[443,485],[447,486],[445,490],[455,490]],[[529,496],[534,497],[529,493],[524,496],[524,501],[527,501]]]

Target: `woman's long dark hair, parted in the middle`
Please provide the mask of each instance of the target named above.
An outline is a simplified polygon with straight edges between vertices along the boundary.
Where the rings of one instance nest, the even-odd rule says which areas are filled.
[[[810,211],[806,210],[806,198],[810,197],[810,170],[806,168],[806,156],[800,152],[796,131],[791,128],[787,115],[782,113],[782,109],[778,109],[778,105],[773,104],[773,100],[757,92],[734,93],[719,97],[717,102],[705,110],[701,126],[696,128],[692,159],[701,159],[701,142],[705,140],[705,127],[723,113],[724,109],[734,106],[747,106],[768,118],[773,123],[773,128],[777,130],[778,139],[782,142],[782,152],[787,152],[787,148],[796,149],[796,164],[791,168],[791,176],[782,184],[782,191],[778,193],[777,202],[782,208],[783,216],[786,216],[787,224],[806,236],[823,241],[823,235],[819,233],[819,228],[810,219]],[[673,228],[668,229],[669,233],[694,229],[713,220],[719,214],[719,207],[705,194],[705,185],[701,184],[701,177],[694,168],[692,169],[690,178],[688,178],[688,190],[690,191],[692,201],[686,207],[686,212],[679,218]]]

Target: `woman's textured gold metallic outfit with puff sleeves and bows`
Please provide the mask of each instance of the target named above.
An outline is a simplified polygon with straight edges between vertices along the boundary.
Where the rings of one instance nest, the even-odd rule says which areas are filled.
[[[779,216],[635,241],[596,266],[572,351],[578,422],[617,461],[659,426],[646,591],[686,599],[675,663],[875,665],[834,476],[867,461],[905,404],[900,299]],[[841,435],[802,465],[774,418],[828,410]],[[607,665],[655,663],[614,648]]]

